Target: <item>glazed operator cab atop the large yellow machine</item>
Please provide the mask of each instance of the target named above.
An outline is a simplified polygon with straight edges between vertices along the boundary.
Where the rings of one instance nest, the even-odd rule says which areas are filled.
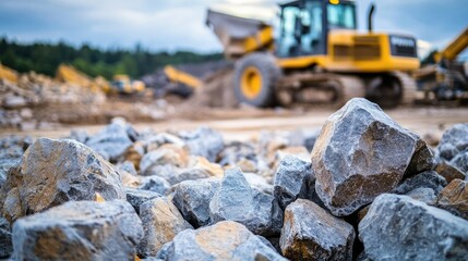
[[[357,29],[352,1],[299,0],[280,5],[279,58],[326,54],[331,29]]]

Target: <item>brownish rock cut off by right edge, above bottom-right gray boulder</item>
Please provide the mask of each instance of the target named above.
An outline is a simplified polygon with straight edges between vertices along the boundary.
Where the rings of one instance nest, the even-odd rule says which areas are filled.
[[[468,220],[468,181],[452,181],[439,194],[437,207]]]

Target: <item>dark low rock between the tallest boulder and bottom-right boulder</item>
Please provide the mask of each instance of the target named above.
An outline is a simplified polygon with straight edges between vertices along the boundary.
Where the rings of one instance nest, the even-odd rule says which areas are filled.
[[[416,176],[407,178],[398,187],[392,190],[393,194],[408,194],[416,188],[431,188],[437,195],[445,186],[447,182],[441,175],[434,171],[427,171]]]

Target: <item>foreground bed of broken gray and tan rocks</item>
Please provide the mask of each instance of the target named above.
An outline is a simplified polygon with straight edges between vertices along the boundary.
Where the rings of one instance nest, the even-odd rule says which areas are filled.
[[[468,124],[421,138],[365,99],[320,132],[236,140],[118,117],[0,148],[0,259],[468,257]]]

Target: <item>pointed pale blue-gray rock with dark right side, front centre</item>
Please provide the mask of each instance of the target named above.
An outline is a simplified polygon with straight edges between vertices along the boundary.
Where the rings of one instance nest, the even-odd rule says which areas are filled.
[[[236,221],[263,236],[277,235],[283,226],[283,212],[275,198],[251,188],[238,167],[225,172],[209,202],[209,215],[213,223]]]

